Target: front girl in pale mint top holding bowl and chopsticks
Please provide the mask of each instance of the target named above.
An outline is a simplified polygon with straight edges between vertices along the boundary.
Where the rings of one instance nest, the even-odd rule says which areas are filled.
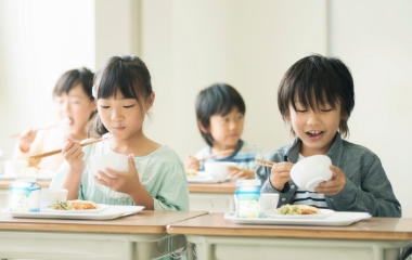
[[[137,56],[108,58],[94,77],[98,115],[93,130],[111,139],[81,147],[69,140],[62,150],[62,165],[51,187],[68,191],[67,199],[108,205],[140,205],[155,210],[189,210],[189,188],[183,164],[169,147],[143,133],[143,120],[155,93],[145,64]],[[96,154],[128,155],[129,170],[107,169],[100,178],[87,169]]]

